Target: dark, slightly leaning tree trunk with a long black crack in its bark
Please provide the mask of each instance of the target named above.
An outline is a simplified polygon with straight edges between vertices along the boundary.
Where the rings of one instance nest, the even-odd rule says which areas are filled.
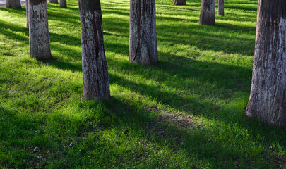
[[[103,43],[100,0],[79,0],[83,49],[83,96],[109,99],[109,77]]]

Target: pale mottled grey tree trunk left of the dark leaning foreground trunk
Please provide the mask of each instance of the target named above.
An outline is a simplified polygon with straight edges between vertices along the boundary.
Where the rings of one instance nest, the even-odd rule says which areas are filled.
[[[47,0],[29,0],[30,58],[52,58],[49,47]]]

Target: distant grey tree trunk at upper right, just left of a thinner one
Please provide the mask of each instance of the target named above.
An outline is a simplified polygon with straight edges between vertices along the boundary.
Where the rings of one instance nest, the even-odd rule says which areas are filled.
[[[215,0],[202,0],[200,25],[215,25]]]

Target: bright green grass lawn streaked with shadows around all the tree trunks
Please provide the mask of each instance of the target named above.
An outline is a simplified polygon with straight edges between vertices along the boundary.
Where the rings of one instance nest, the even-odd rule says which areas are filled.
[[[157,0],[146,67],[128,62],[129,1],[102,0],[109,101],[82,96],[76,0],[48,3],[45,62],[29,58],[25,7],[0,8],[0,168],[285,168],[286,132],[244,116],[257,1],[225,1],[213,26],[200,8]]]

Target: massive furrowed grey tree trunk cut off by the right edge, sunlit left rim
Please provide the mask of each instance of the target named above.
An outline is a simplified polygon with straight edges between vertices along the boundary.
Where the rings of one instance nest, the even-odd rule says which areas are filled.
[[[246,115],[286,129],[286,1],[259,0]]]

